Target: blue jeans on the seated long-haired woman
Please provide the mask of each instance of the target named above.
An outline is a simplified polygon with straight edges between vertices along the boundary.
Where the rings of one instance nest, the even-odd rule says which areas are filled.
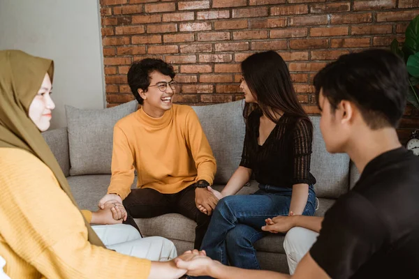
[[[263,232],[266,218],[287,216],[292,188],[259,184],[253,195],[233,195],[219,201],[212,213],[201,250],[222,264],[242,269],[260,269],[253,243],[270,233]],[[316,211],[316,194],[309,186],[309,197],[302,215]]]

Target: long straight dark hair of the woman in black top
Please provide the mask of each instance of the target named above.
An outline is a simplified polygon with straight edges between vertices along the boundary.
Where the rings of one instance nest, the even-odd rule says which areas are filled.
[[[276,116],[279,112],[309,120],[298,103],[286,63],[277,52],[270,50],[247,57],[242,62],[242,75],[251,94],[258,100],[257,105],[246,103],[244,119],[256,109],[275,123],[279,120]]]

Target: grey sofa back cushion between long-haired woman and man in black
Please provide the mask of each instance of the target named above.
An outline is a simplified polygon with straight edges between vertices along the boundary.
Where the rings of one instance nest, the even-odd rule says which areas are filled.
[[[320,116],[310,116],[314,126],[311,173],[316,177],[317,197],[337,199],[349,190],[349,156],[330,154],[320,131]]]

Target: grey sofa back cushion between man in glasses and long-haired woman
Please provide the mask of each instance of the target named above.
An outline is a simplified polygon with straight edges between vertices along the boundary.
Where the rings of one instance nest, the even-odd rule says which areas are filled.
[[[214,183],[225,184],[242,159],[244,101],[193,107],[216,158]]]

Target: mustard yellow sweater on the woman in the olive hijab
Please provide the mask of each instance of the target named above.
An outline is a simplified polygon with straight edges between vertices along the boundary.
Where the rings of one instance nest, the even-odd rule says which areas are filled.
[[[82,214],[51,170],[0,148],[0,255],[10,278],[147,278],[151,262],[87,241]]]

